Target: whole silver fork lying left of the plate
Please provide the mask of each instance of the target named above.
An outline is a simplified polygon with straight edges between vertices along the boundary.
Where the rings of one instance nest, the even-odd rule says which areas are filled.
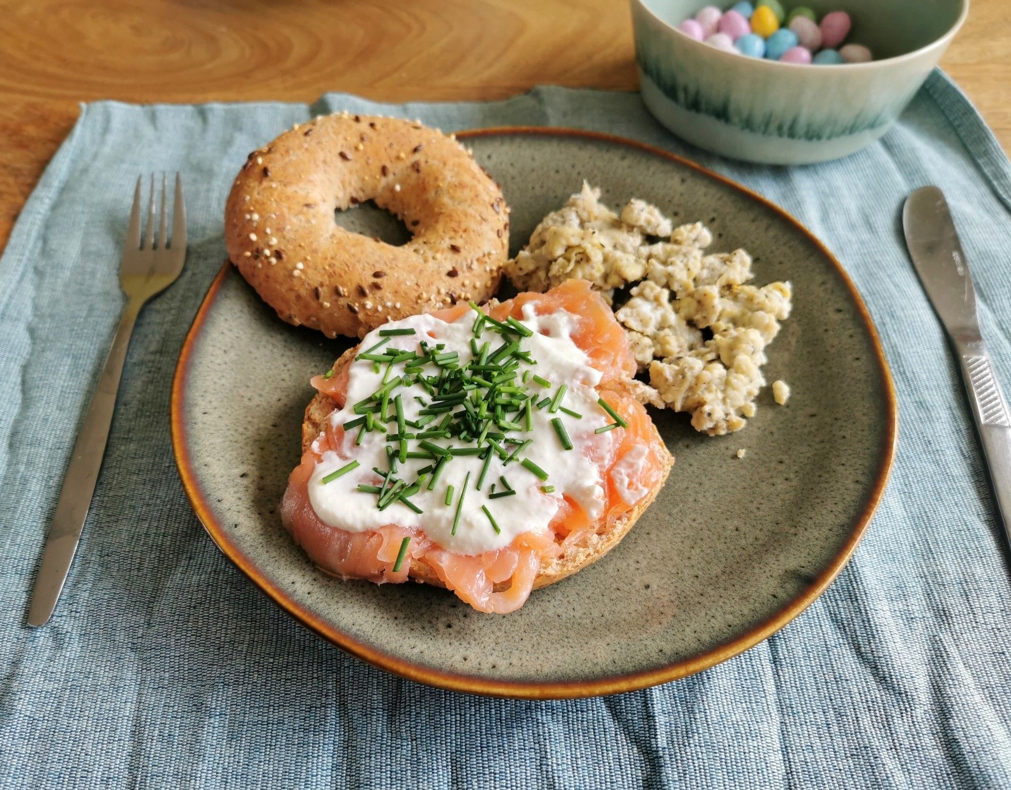
[[[172,210],[172,240],[168,239],[168,202],[166,177],[162,176],[162,210],[159,218],[158,240],[155,240],[155,176],[151,177],[151,198],[148,203],[148,231],[141,241],[141,210],[144,205],[142,185],[144,176],[136,180],[133,207],[126,230],[125,249],[119,264],[119,286],[126,294],[126,309],[119,320],[119,329],[105,359],[105,367],[98,379],[88,407],[88,414],[78,434],[71,456],[67,476],[64,477],[60,501],[45,540],[42,564],[35,578],[35,587],[28,609],[29,625],[44,625],[56,608],[74,560],[84,520],[88,516],[91,498],[95,493],[98,470],[109,437],[112,412],[116,405],[116,391],[123,370],[126,348],[133,332],[133,324],[141,309],[152,297],[163,291],[179,276],[186,260],[186,207],[183,204],[183,184],[176,173],[175,206]]]

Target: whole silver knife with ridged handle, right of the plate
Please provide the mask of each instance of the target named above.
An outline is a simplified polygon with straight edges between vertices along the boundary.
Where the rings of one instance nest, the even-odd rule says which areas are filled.
[[[917,189],[902,211],[909,255],[951,340],[980,431],[1004,532],[1011,542],[1011,418],[976,317],[976,289],[944,194]]]

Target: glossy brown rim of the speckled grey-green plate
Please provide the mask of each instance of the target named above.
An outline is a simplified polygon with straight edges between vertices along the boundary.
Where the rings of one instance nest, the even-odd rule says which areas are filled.
[[[859,314],[860,319],[863,321],[864,328],[874,345],[875,358],[878,362],[878,370],[881,374],[882,383],[887,393],[886,409],[888,410],[888,436],[881,448],[878,474],[875,477],[872,487],[870,488],[866,505],[864,506],[859,517],[856,519],[849,539],[832,558],[828,567],[816,578],[811,586],[765,622],[755,626],[749,631],[746,631],[737,638],[725,642],[700,655],[674,662],[673,664],[669,664],[666,667],[661,667],[656,670],[588,681],[563,683],[493,681],[470,675],[442,672],[389,655],[382,650],[358,641],[348,634],[337,630],[329,623],[313,615],[311,612],[303,609],[297,602],[288,597],[283,588],[273,584],[270,580],[264,577],[263,574],[260,573],[259,568],[257,568],[256,565],[254,565],[249,558],[246,557],[240,547],[228,538],[224,525],[214,518],[210,507],[207,505],[206,498],[197,482],[193,463],[190,459],[186,426],[183,422],[186,379],[189,375],[193,348],[196,345],[196,341],[200,337],[207,314],[217,297],[221,283],[224,281],[224,276],[231,266],[231,263],[228,262],[225,262],[224,266],[221,267],[221,270],[217,273],[217,276],[211,283],[210,288],[208,288],[203,301],[200,303],[200,309],[197,311],[197,314],[193,319],[193,324],[190,326],[189,332],[186,334],[186,339],[183,342],[182,350],[179,353],[179,361],[176,364],[175,376],[172,381],[172,449],[175,453],[176,465],[179,467],[179,476],[182,478],[186,496],[189,497],[197,518],[200,520],[200,523],[203,524],[203,527],[207,531],[207,534],[210,535],[211,540],[213,540],[224,555],[231,559],[240,570],[253,580],[253,582],[264,593],[266,593],[271,600],[274,601],[274,603],[278,604],[282,609],[288,612],[288,614],[301,622],[316,635],[321,636],[327,641],[336,644],[338,647],[341,647],[347,652],[350,652],[352,655],[361,659],[367,664],[371,664],[373,667],[378,667],[381,670],[390,672],[393,675],[397,675],[401,678],[406,678],[407,680],[416,681],[418,683],[425,683],[430,686],[449,689],[451,691],[520,699],[572,699],[577,697],[593,697],[604,694],[617,694],[625,691],[637,691],[639,689],[645,689],[650,686],[656,686],[660,683],[666,683],[668,681],[677,680],[678,678],[684,678],[688,675],[694,675],[698,672],[709,669],[710,667],[714,667],[721,662],[725,662],[738,653],[744,652],[744,650],[749,647],[753,647],[758,642],[768,638],[773,633],[778,631],[787,623],[807,609],[815,601],[815,599],[825,592],[832,581],[839,575],[839,572],[842,570],[843,566],[849,560],[849,557],[856,548],[856,544],[859,543],[860,538],[866,531],[867,524],[870,523],[870,518],[874,515],[875,510],[878,507],[878,503],[881,501],[882,495],[885,492],[885,487],[888,484],[889,473],[892,470],[892,460],[895,457],[895,447],[898,436],[898,405],[896,402],[895,384],[892,380],[892,371],[889,368],[888,361],[885,359],[885,351],[882,348],[881,339],[878,337],[878,332],[870,320],[870,315],[867,313],[863,299],[860,298],[852,280],[849,278],[849,275],[846,274],[846,271],[842,268],[839,261],[836,260],[835,256],[832,255],[825,245],[823,245],[810,231],[801,225],[800,222],[774,203],[766,200],[764,197],[751,191],[750,189],[741,186],[735,181],[725,178],[718,173],[714,173],[701,165],[697,165],[696,163],[690,162],[679,156],[663,151],[662,149],[658,149],[644,143],[639,143],[634,140],[621,138],[616,135],[607,135],[600,131],[541,126],[495,126],[490,128],[462,131],[458,134],[457,137],[466,139],[505,135],[583,138],[605,143],[613,143],[620,146],[628,146],[658,157],[662,157],[663,159],[667,159],[671,162],[676,162],[683,167],[688,167],[699,173],[702,173],[708,178],[712,178],[720,183],[737,189],[739,192],[746,194],[748,197],[761,203],[766,208],[774,211],[788,223],[793,225],[798,231],[804,234],[831,262],[832,266],[835,268],[836,274],[843,281],[846,289],[849,291],[849,294],[856,305],[856,311]]]

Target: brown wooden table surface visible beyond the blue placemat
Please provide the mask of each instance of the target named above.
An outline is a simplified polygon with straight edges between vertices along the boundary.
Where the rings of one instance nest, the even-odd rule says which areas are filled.
[[[841,3],[844,5],[844,3]],[[8,0],[0,248],[78,102],[496,99],[636,86],[626,0]],[[1011,149],[1011,0],[972,0],[941,65]]]

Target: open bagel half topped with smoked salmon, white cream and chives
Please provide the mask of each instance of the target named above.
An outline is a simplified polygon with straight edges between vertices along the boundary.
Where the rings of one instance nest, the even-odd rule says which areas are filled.
[[[313,379],[284,524],[333,575],[515,611],[615,546],[662,487],[673,459],[634,373],[578,280],[387,324]]]

